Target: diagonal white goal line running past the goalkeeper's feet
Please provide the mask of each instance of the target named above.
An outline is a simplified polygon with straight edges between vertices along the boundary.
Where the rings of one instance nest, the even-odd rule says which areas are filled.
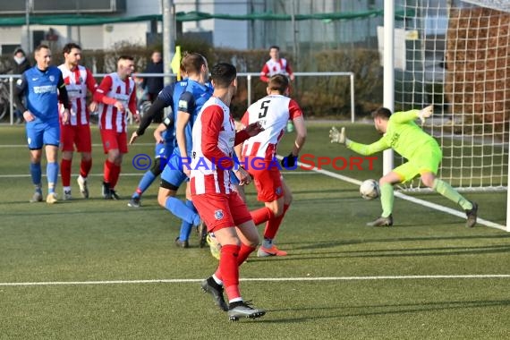
[[[278,157],[278,159],[282,158],[281,156],[277,156],[277,157]],[[307,168],[310,167],[310,164],[303,164],[301,162],[297,162],[297,164],[299,166],[306,166]],[[311,170],[315,171],[315,172],[317,172],[319,174],[326,174],[329,177],[338,178],[338,179],[343,180],[343,181],[348,182],[348,183],[353,183],[353,184],[356,184],[356,185],[360,185],[361,184],[361,181],[358,181],[358,180],[356,180],[354,178],[344,176],[343,174],[336,174],[336,173],[333,173],[331,171],[327,171],[327,170],[324,170],[324,169],[319,169],[317,166],[314,166]],[[446,208],[446,207],[443,207],[443,206],[441,206],[439,204],[431,203],[431,202],[429,202],[427,200],[420,200],[420,199],[417,199],[415,197],[408,196],[408,195],[406,195],[406,194],[404,194],[402,192],[395,191],[395,197],[398,197],[398,198],[400,198],[402,200],[408,200],[408,201],[410,201],[412,203],[420,204],[421,206],[425,206],[427,208],[433,208],[433,209],[436,209],[436,210],[439,210],[439,211],[443,211],[443,212],[446,212],[446,214],[450,214],[450,215],[453,215],[453,216],[456,216],[456,217],[466,218],[465,214],[463,212],[461,212],[461,211],[458,211],[458,210],[455,210],[455,209],[452,209],[452,208]],[[497,223],[488,221],[488,220],[480,218],[480,217],[477,218],[477,224],[486,225],[486,226],[490,226],[492,228],[497,228],[497,229],[501,229],[503,231],[506,231],[506,226],[505,225],[498,225]]]

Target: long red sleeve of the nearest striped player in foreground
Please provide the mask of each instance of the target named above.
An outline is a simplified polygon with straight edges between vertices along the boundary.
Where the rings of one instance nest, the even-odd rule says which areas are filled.
[[[223,109],[220,106],[208,106],[200,117],[202,123],[202,143],[200,145],[204,157],[217,167],[228,169],[234,161],[217,147],[219,132],[223,126]]]

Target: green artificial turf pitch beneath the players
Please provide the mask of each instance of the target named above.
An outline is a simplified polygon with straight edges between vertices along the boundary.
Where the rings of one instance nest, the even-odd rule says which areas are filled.
[[[328,128],[325,123],[310,126],[303,153],[356,156],[331,145]],[[349,125],[348,131],[355,140],[377,138],[370,125]],[[97,130],[93,136],[99,143]],[[242,266],[242,278],[253,280],[242,281],[243,296],[268,314],[228,322],[200,292],[200,280],[217,260],[198,248],[195,235],[190,249],[174,246],[180,223],[157,206],[157,183],[142,208],[126,206],[143,174],[133,168],[132,157],[153,153],[149,132],[140,141],[146,144],[133,146],[123,162],[125,175],[117,190],[125,200],[100,199],[104,155],[95,147],[91,198],[78,198],[73,176],[76,200],[47,206],[28,203],[30,178],[21,176],[28,174],[29,163],[22,127],[0,127],[0,338],[510,336],[510,278],[494,277],[510,274],[510,234],[481,225],[466,229],[459,217],[399,199],[394,227],[369,228],[364,225],[378,217],[378,201],[361,200],[357,186],[310,171],[285,172],[294,200],[277,242],[289,256],[251,257]],[[292,142],[292,135],[285,136],[279,153],[287,154]],[[73,163],[73,174],[78,163]],[[371,171],[336,173],[363,180],[378,178],[380,169],[378,159]],[[249,207],[259,207],[253,187],[247,193]],[[437,194],[413,196],[457,208]],[[466,197],[479,202],[480,217],[505,224],[506,193],[470,192]],[[480,277],[464,277],[471,275]],[[369,276],[373,279],[362,279]],[[4,285],[117,280],[126,283]]]

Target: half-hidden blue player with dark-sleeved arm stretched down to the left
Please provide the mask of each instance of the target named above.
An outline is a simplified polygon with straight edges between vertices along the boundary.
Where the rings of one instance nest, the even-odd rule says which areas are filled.
[[[170,85],[167,85],[164,89],[159,92],[154,103],[149,107],[149,111],[143,115],[140,126],[137,131],[132,132],[130,144],[141,135],[145,133],[145,130],[149,127],[153,117],[161,112],[165,107],[170,107],[171,113],[169,113],[164,119],[163,123],[157,126],[157,130],[154,132],[154,137],[157,140],[155,149],[155,158],[152,163],[150,170],[143,175],[136,188],[133,192],[131,200],[128,202],[128,206],[132,208],[140,208],[140,198],[144,191],[146,191],[150,184],[154,182],[156,177],[161,174],[166,166],[168,158],[171,157],[174,151],[174,92],[183,93],[188,85],[187,81],[177,81]]]

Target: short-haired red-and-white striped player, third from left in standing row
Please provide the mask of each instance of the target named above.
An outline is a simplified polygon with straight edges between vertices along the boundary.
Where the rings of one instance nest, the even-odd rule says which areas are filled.
[[[103,179],[103,197],[105,200],[119,200],[115,185],[121,174],[123,154],[127,147],[127,119],[129,109],[136,122],[136,89],[131,78],[134,71],[134,59],[121,55],[117,61],[117,72],[109,73],[94,94],[99,103],[99,132],[103,140],[106,161]]]

